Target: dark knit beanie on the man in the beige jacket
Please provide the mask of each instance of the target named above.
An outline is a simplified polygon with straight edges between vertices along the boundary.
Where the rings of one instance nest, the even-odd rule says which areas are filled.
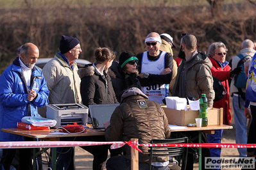
[[[62,40],[60,40],[60,53],[65,54],[69,52],[69,50],[74,49],[78,43],[80,43],[80,41],[73,36],[62,35]]]

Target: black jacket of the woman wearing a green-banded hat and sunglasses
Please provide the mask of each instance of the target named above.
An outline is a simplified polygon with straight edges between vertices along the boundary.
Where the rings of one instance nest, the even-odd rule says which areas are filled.
[[[126,89],[132,87],[141,89],[141,83],[139,79],[136,78],[138,73],[124,73],[117,61],[114,61],[110,69],[108,69],[108,75],[111,77],[115,97],[118,102],[120,102],[121,96]]]

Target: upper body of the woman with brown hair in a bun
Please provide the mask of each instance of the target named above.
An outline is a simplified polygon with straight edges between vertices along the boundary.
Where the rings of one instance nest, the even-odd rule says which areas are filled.
[[[78,70],[81,78],[81,99],[84,105],[117,104],[108,68],[115,59],[112,50],[99,47],[95,50],[96,62]]]

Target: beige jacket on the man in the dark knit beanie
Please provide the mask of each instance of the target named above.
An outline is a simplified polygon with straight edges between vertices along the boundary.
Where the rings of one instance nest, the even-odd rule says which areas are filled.
[[[81,80],[76,62],[72,69],[57,52],[55,57],[46,63],[42,72],[50,91],[49,104],[81,104]]]

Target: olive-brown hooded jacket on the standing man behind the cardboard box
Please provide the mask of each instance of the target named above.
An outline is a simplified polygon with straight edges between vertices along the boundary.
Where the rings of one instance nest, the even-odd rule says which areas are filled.
[[[208,106],[212,107],[215,93],[212,73],[210,72],[211,68],[212,63],[206,52],[195,51],[188,61],[183,59],[181,65],[178,66],[173,96],[192,97],[198,100],[201,98],[201,94],[205,93],[208,99]],[[182,93],[184,95],[181,95]]]

